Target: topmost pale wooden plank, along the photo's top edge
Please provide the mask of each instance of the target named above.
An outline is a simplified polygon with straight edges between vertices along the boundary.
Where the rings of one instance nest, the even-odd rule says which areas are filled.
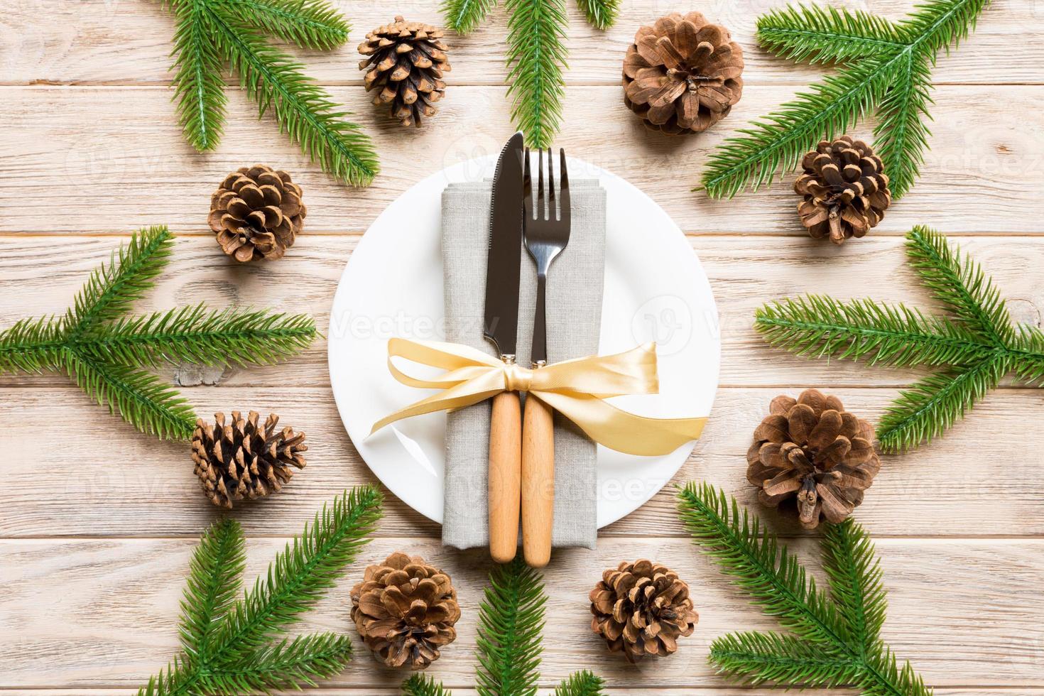
[[[442,24],[433,0],[404,0],[394,8],[380,0],[338,0],[333,4],[339,6],[352,24],[350,41],[336,51],[304,55],[309,74],[326,83],[361,83],[356,47],[366,31],[389,22],[396,13],[407,19]],[[775,58],[757,46],[754,32],[758,16],[784,4],[785,0],[715,0],[699,3],[697,7],[709,19],[729,27],[743,46],[746,58],[743,77],[750,85],[800,85],[816,77],[815,69]],[[912,3],[869,0],[835,4],[898,19],[909,11]],[[616,26],[600,32],[587,25],[574,3],[568,6],[567,79],[584,85],[616,85],[623,53],[639,26],[651,24],[669,11],[696,7],[692,3],[664,5],[656,0],[625,2]],[[997,0],[983,13],[975,32],[960,50],[940,62],[934,73],[936,80],[1040,82],[1044,61],[1035,46],[1044,41],[1042,17],[1044,10],[1034,0]],[[501,8],[494,10],[472,35],[449,35],[451,90],[457,85],[503,81],[506,32],[506,14]],[[0,23],[0,80],[19,85],[164,83],[170,79],[167,68],[172,33],[172,20],[150,0],[78,0],[57,5],[46,0],[23,0],[14,3]]]

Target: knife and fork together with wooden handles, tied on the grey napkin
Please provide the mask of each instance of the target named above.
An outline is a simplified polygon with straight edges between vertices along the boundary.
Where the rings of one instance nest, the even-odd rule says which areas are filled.
[[[537,155],[537,191],[533,196],[531,153],[521,133],[507,141],[497,161],[490,207],[490,249],[485,279],[483,334],[500,359],[515,364],[519,280],[522,246],[537,266],[537,307],[530,363],[540,369],[547,356],[547,273],[555,257],[569,243],[570,197],[565,150],[559,150],[559,191],[554,161],[547,154],[545,189],[543,149]],[[518,550],[519,520],[522,552],[535,568],[551,556],[554,508],[554,429],[551,409],[539,399],[525,401],[522,413],[517,391],[493,400],[490,423],[490,554],[507,562]]]

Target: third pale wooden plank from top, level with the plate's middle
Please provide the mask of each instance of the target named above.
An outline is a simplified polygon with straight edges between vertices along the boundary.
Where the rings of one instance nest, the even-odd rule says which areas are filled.
[[[325,335],[337,330],[376,331],[370,327],[380,326],[381,317],[366,317],[370,325],[348,320],[330,325],[329,307],[358,239],[305,234],[278,263],[238,266],[229,262],[210,238],[183,237],[168,269],[158,279],[157,289],[139,303],[138,311],[200,301],[214,307],[232,303],[311,313]],[[1016,321],[1041,326],[1044,274],[1037,270],[1044,267],[1044,239],[957,235],[951,239],[993,275]],[[0,236],[0,328],[23,316],[64,312],[92,269],[108,261],[123,240],[67,237],[61,243],[55,241],[50,237]],[[716,327],[694,317],[694,330],[720,333],[720,384],[901,387],[920,375],[909,369],[868,369],[847,361],[794,358],[767,346],[752,328],[754,312],[764,303],[806,292],[840,298],[873,296],[932,310],[935,303],[906,266],[900,237],[875,235],[841,248],[807,237],[692,237],[690,241],[710,279],[719,316]],[[402,326],[408,335],[412,321],[419,318],[396,318],[387,331],[398,332]],[[164,371],[171,376],[174,369]],[[230,370],[222,384],[326,387],[329,380],[327,344],[321,337],[311,350],[288,362]],[[62,376],[0,378],[3,386],[68,384]]]

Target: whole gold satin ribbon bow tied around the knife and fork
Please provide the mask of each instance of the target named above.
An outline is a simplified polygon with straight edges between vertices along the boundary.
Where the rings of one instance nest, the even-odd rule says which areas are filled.
[[[435,379],[418,379],[396,367],[394,358],[446,371]],[[469,345],[393,338],[388,340],[387,364],[402,384],[442,391],[377,422],[371,434],[402,418],[464,408],[501,391],[527,391],[575,423],[594,441],[625,454],[669,454],[698,438],[707,423],[706,417],[649,418],[602,401],[659,391],[656,343],[617,355],[576,358],[527,369],[505,364]]]

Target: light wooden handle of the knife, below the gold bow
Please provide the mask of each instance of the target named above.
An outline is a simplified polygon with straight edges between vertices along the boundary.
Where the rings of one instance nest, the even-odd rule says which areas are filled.
[[[515,557],[519,541],[522,475],[522,408],[517,391],[493,398],[490,421],[490,555],[498,563]]]

